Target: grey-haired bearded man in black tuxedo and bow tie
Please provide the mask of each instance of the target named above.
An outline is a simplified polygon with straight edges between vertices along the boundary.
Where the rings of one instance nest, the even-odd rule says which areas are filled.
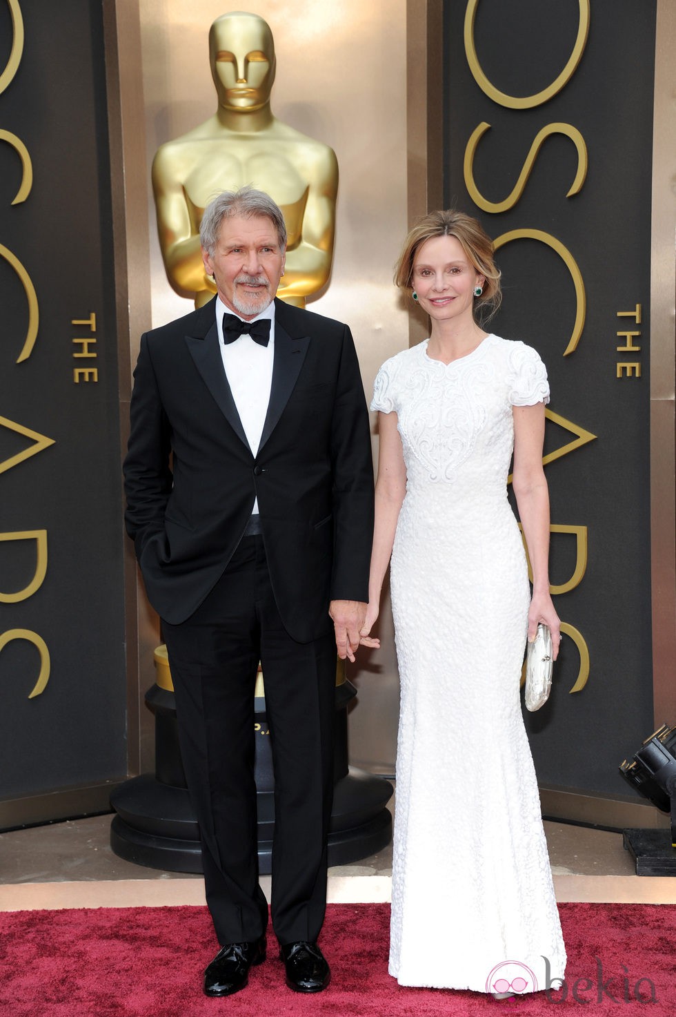
[[[350,330],[273,299],[286,229],[272,199],[250,187],[220,194],[200,237],[218,297],[141,338],[127,530],[163,619],[222,947],[204,992],[237,992],[265,958],[259,659],[275,781],[272,926],[287,984],[319,992],[335,652],[354,660],[367,600],[368,417]]]

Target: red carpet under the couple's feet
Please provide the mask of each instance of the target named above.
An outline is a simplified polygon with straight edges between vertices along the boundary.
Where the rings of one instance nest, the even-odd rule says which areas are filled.
[[[225,1000],[201,992],[201,971],[217,949],[203,907],[0,913],[0,1014],[675,1017],[676,907],[561,904],[560,911],[565,990],[505,1000],[397,985],[387,974],[387,904],[329,904],[320,942],[333,978],[325,992],[305,997],[286,988],[270,935],[267,961],[247,989]]]

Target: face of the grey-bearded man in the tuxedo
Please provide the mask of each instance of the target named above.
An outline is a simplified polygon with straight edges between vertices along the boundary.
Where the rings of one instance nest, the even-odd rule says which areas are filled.
[[[202,260],[226,307],[251,320],[273,300],[284,276],[286,251],[265,216],[226,216],[213,253],[202,247]]]

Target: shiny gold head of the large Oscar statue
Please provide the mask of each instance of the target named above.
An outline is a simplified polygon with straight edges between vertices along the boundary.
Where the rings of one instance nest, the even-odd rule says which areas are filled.
[[[234,10],[218,17],[209,29],[209,61],[224,109],[245,113],[269,102],[274,43],[269,25],[258,14]]]

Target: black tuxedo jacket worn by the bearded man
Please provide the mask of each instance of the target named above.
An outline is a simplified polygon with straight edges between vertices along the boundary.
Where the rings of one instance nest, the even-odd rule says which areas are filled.
[[[141,337],[124,463],[127,532],[150,603],[178,624],[258,510],[278,607],[298,642],[329,600],[368,599],[373,468],[347,325],[275,301],[267,416],[254,457],[223,366],[216,298]]]

